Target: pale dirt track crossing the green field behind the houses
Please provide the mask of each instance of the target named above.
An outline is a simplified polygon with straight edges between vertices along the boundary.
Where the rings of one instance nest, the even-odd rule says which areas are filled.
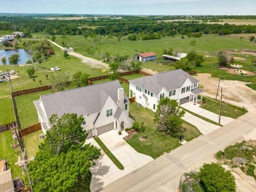
[[[53,45],[58,46],[61,50],[64,50],[64,47],[60,46],[58,43],[55,43],[55,42],[51,41],[50,39],[48,39],[48,41],[50,41]],[[93,68],[108,69],[108,67],[109,67],[108,64],[105,62],[99,61],[97,59],[85,57],[84,55],[82,55],[80,53],[76,53],[74,51],[68,52],[68,54],[81,59],[84,63],[86,63],[87,65],[90,65]]]

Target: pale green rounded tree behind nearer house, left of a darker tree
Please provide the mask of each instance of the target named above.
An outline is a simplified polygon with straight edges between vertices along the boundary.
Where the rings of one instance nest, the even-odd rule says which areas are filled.
[[[51,73],[50,81],[56,91],[67,89],[71,76],[69,72],[56,71]]]

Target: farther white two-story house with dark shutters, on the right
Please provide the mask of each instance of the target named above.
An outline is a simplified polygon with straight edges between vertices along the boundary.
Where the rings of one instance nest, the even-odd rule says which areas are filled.
[[[182,69],[158,73],[129,81],[129,97],[135,97],[135,101],[143,107],[156,110],[158,101],[163,97],[176,100],[179,105],[185,102],[196,103],[199,89],[199,81]]]

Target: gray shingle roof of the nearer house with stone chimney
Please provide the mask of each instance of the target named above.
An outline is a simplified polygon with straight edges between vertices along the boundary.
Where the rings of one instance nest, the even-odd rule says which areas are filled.
[[[117,102],[117,89],[119,88],[122,88],[122,86],[116,80],[46,94],[41,96],[41,100],[47,118],[50,118],[52,114],[57,114],[58,116],[64,113],[76,113],[77,115],[94,114],[101,111],[108,97]],[[129,103],[129,99],[124,93],[125,103]]]

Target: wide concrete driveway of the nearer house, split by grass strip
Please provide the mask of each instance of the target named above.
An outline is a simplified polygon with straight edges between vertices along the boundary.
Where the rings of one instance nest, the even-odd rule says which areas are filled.
[[[99,135],[99,138],[111,150],[111,153],[115,155],[118,161],[123,164],[124,170],[119,170],[101,149],[102,155],[95,161],[96,164],[90,168],[92,173],[90,189],[92,192],[100,190],[111,182],[154,160],[152,157],[134,150],[115,130],[103,133]],[[86,139],[85,143],[91,143],[100,148],[93,138]]]

